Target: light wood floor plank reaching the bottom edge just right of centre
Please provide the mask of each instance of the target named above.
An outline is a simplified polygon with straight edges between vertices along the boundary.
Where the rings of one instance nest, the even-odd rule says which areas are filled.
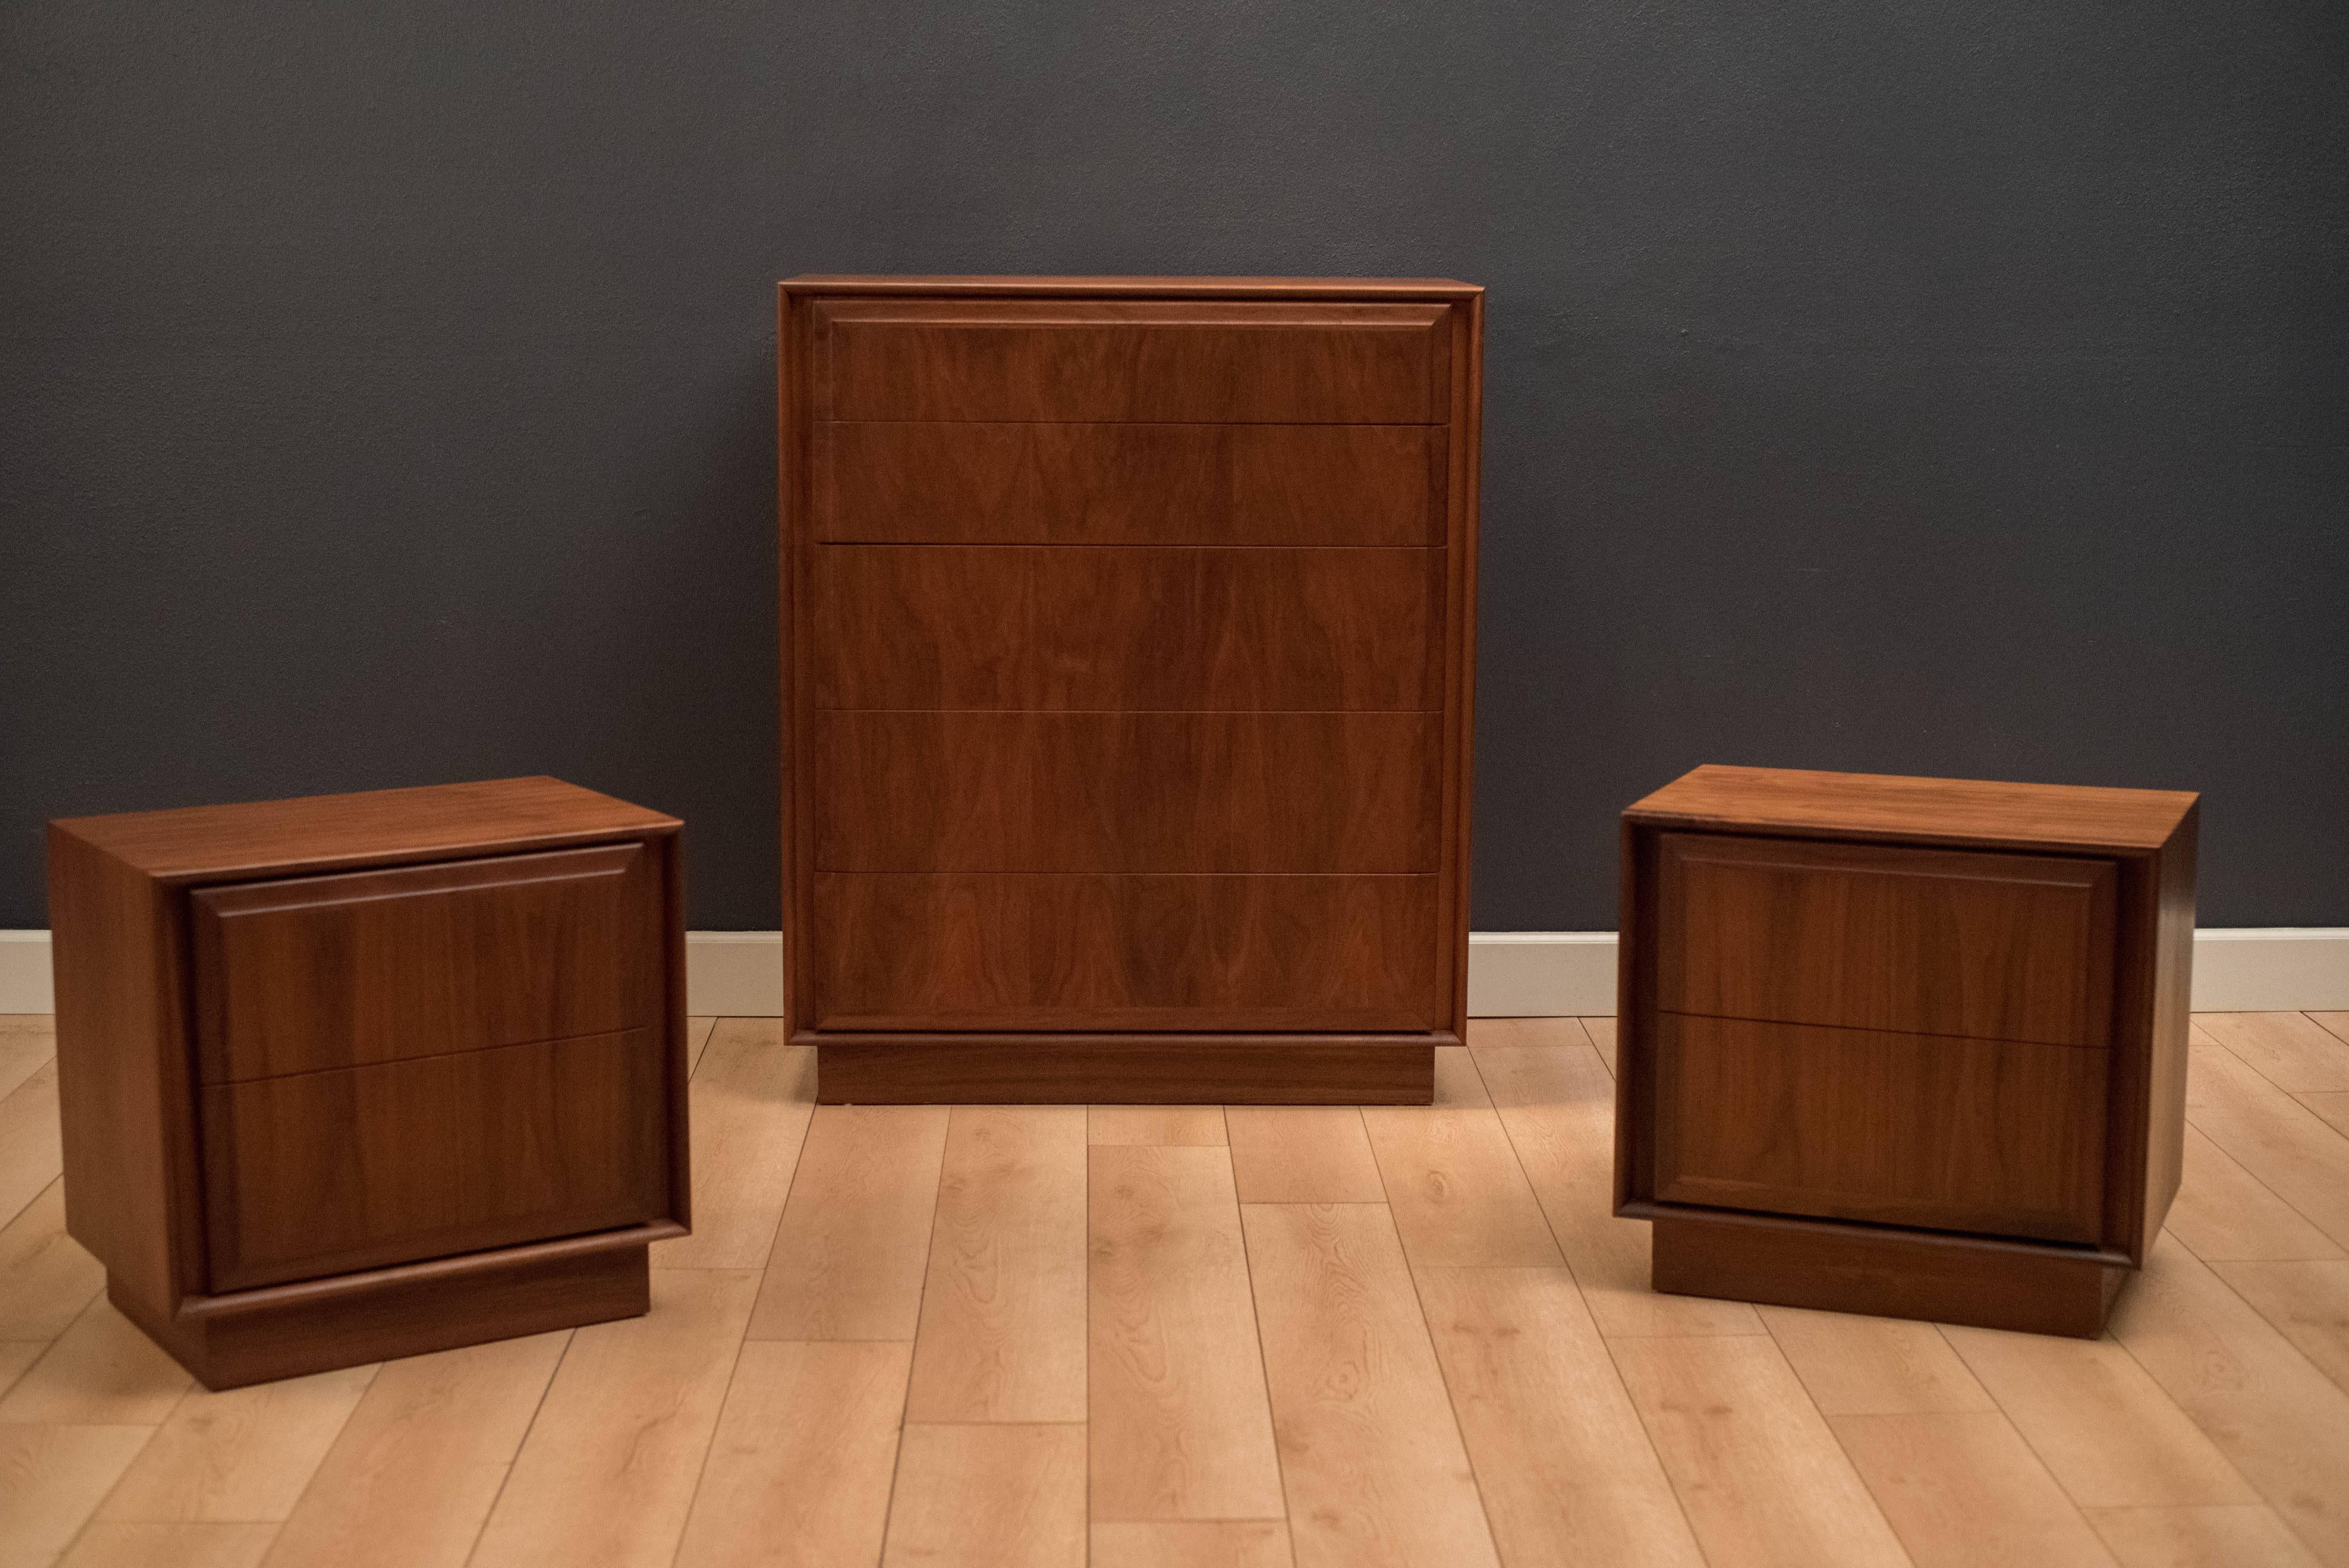
[[[1499,1563],[1388,1211],[1240,1214],[1299,1568]]]

